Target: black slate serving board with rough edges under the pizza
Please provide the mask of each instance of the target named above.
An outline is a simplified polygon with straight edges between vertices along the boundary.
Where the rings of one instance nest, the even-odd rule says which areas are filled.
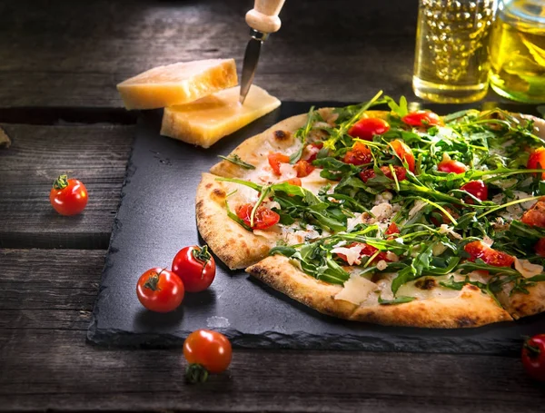
[[[170,267],[185,245],[202,243],[194,195],[207,172],[244,139],[274,123],[316,107],[345,103],[292,103],[203,150],[159,135],[161,113],[142,113],[127,168],[88,339],[101,345],[178,347],[194,329],[217,329],[246,348],[367,349],[507,354],[522,335],[545,330],[545,314],[479,329],[411,329],[376,326],[324,316],[272,290],[242,270],[218,265],[212,287],[187,294],[170,314],[144,310],[136,280],[154,266]],[[486,103],[490,104],[490,103]],[[426,105],[438,113],[469,106]],[[535,107],[509,106],[536,113]],[[536,113],[538,114],[538,113]]]

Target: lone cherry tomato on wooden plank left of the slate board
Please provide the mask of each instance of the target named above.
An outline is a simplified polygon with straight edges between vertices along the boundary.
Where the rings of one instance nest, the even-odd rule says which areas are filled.
[[[76,179],[68,179],[67,175],[59,176],[49,192],[49,202],[61,215],[77,215],[84,211],[88,200],[85,185]]]

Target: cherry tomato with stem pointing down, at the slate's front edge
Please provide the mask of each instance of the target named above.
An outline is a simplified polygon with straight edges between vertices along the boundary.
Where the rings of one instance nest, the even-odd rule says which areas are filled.
[[[189,365],[185,377],[191,383],[203,382],[208,373],[221,373],[231,364],[233,350],[222,333],[197,329],[183,341],[183,357]]]

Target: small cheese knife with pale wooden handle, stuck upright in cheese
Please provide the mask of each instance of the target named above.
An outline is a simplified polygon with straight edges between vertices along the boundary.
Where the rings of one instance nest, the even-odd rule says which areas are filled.
[[[250,26],[250,41],[244,53],[241,104],[244,103],[252,86],[263,42],[267,40],[269,34],[280,29],[281,21],[278,14],[284,2],[285,0],[255,0],[253,9],[246,13],[246,23]]]

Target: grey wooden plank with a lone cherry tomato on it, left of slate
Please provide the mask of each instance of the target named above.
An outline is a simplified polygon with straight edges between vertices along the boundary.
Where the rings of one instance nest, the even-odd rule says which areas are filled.
[[[134,126],[2,127],[13,144],[0,151],[0,247],[107,248]],[[63,217],[49,204],[51,185],[63,172],[89,192],[81,215]]]

